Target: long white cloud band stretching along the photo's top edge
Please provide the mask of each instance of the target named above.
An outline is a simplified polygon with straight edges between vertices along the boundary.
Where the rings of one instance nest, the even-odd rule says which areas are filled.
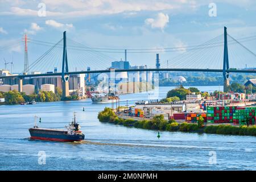
[[[158,1],[127,1],[127,0],[42,0],[47,6],[48,17],[106,15],[118,13],[137,13],[139,11],[172,10],[172,13],[192,13],[202,6],[208,6],[210,1],[205,0],[158,0]],[[215,0],[214,3],[228,3],[233,6],[255,9],[255,0]],[[35,1],[1,0],[10,10],[0,12],[1,15],[38,16],[38,7]],[[2,5],[1,4],[1,5]],[[3,6],[4,7],[4,6]],[[26,9],[24,9],[26,7]],[[6,9],[6,8],[5,8]]]

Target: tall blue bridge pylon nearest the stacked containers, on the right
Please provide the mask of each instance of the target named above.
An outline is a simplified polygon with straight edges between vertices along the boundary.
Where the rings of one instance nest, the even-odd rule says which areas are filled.
[[[226,32],[226,27],[224,27],[224,57],[223,57],[223,77],[224,77],[224,92],[228,92],[229,86],[229,54],[228,54],[228,37]]]

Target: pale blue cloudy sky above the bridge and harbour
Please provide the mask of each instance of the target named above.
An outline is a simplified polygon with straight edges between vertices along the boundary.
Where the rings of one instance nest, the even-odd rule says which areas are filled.
[[[186,52],[185,47],[221,35],[224,26],[237,39],[256,35],[255,17],[254,0],[0,0],[0,69],[5,68],[6,59],[14,61],[13,72],[22,72],[24,46],[16,42],[25,33],[29,39],[56,43],[67,31],[69,39],[97,48],[184,47],[160,52],[163,64]],[[256,52],[255,41],[244,44]],[[48,48],[28,42],[29,63]],[[155,67],[158,50],[127,52],[131,65]],[[113,60],[125,59],[124,53],[104,54]]]

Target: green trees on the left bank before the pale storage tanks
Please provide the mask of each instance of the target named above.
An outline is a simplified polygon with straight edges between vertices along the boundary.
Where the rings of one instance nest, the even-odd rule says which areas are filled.
[[[72,96],[61,98],[62,90],[56,88],[56,93],[52,91],[42,91],[36,94],[27,95],[26,93],[22,92],[19,93],[16,90],[12,90],[9,92],[0,92],[0,98],[5,98],[5,102],[0,102],[0,105],[17,105],[25,102],[55,102],[55,101],[75,101],[79,100],[77,94],[73,94]]]

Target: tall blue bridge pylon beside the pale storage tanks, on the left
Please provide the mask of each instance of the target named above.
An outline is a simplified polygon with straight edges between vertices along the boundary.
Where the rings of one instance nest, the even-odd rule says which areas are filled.
[[[67,39],[66,39],[66,31],[63,32],[63,59],[62,59],[62,70],[61,70],[61,78],[62,78],[62,97],[69,96],[69,75],[68,73],[68,56],[67,56]]]

